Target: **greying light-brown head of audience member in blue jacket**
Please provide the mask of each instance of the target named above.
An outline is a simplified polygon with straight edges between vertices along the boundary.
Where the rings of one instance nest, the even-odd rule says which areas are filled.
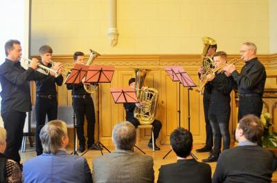
[[[44,153],[57,153],[69,144],[66,123],[58,119],[48,122],[40,131],[39,138],[42,141]]]

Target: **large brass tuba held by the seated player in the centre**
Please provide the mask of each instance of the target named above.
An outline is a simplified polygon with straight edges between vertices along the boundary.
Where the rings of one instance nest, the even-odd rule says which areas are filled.
[[[152,124],[155,120],[157,102],[158,102],[158,90],[155,88],[142,89],[145,77],[150,70],[136,68],[136,96],[141,102],[141,108],[134,109],[134,117],[139,119],[139,123],[146,125]]]

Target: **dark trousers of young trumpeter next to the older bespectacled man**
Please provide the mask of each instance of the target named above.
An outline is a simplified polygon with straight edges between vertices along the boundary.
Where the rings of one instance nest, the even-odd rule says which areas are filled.
[[[229,119],[230,113],[223,115],[208,115],[213,130],[213,153],[220,154],[221,137],[223,139],[223,151],[230,148]]]

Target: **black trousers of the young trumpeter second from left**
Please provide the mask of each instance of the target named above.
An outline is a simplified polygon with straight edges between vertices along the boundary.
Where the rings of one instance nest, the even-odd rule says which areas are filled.
[[[35,101],[35,119],[37,123],[35,127],[35,151],[37,152],[37,155],[43,153],[39,133],[42,130],[42,127],[44,127],[46,115],[48,122],[57,119],[57,99],[43,99],[37,97],[37,100]]]

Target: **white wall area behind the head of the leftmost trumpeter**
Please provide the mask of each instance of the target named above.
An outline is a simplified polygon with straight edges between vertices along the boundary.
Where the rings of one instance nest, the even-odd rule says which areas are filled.
[[[1,0],[0,6],[0,64],[5,61],[5,43],[17,39],[23,48],[23,57],[28,57],[29,0]],[[0,88],[1,90],[1,88]],[[3,121],[0,117],[0,126]]]

